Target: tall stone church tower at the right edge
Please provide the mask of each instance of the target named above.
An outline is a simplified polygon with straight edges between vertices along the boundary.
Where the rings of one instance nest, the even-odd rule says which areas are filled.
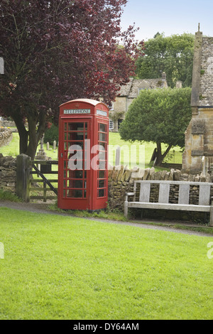
[[[195,33],[192,72],[192,119],[185,131],[182,169],[197,172],[213,163],[213,37]]]

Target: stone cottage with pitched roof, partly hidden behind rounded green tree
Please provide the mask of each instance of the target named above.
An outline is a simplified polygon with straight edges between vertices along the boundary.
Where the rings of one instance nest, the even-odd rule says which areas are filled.
[[[125,117],[125,113],[129,109],[133,99],[138,97],[141,90],[153,90],[156,88],[168,87],[165,72],[158,79],[134,79],[121,86],[119,94],[113,102],[111,111],[109,112],[109,130],[118,131],[119,124]]]

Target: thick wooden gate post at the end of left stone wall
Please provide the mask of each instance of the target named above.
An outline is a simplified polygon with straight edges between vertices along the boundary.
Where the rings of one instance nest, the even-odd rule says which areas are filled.
[[[20,154],[16,158],[16,195],[24,202],[30,201],[31,157]]]

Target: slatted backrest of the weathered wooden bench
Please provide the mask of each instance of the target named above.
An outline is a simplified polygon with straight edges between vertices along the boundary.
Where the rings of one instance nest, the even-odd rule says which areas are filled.
[[[187,182],[187,181],[135,181],[134,191],[136,192],[137,183],[140,183],[140,202],[149,202],[151,184],[159,184],[158,203],[169,203],[170,185],[179,185],[178,204],[189,204],[190,185],[199,186],[199,205],[209,205],[210,191],[213,183]]]

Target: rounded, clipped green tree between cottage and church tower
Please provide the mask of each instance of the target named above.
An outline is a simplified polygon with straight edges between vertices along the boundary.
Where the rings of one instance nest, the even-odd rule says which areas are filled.
[[[190,97],[190,87],[142,90],[121,123],[121,139],[156,143],[156,166],[160,166],[173,146],[185,146],[184,134],[191,119]],[[162,143],[168,145],[165,153]]]

